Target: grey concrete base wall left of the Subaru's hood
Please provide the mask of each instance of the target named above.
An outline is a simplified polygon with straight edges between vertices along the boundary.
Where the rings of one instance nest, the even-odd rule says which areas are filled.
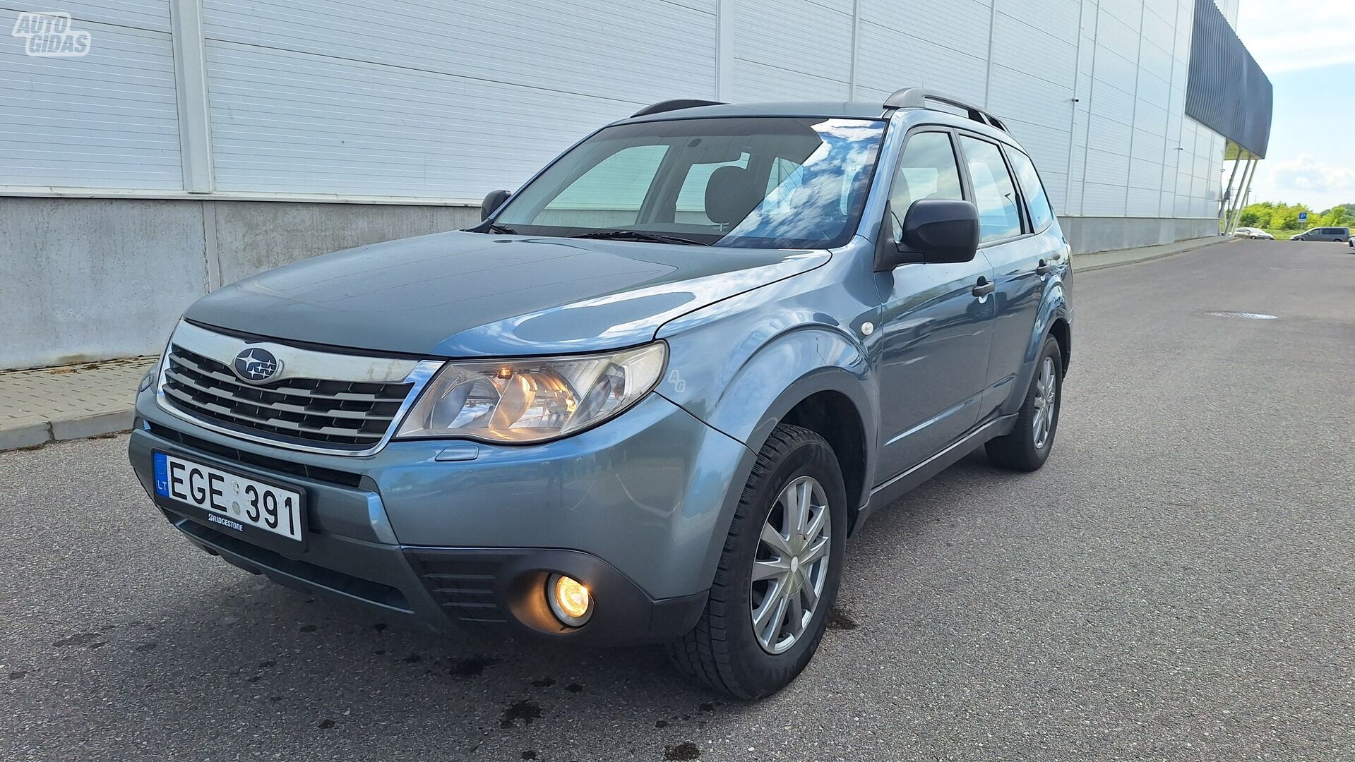
[[[470,207],[3,198],[0,369],[154,355],[224,283],[478,221]]]

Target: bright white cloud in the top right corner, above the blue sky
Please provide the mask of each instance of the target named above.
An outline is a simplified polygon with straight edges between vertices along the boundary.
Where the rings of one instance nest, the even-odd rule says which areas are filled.
[[[1268,74],[1355,64],[1355,1],[1243,0],[1237,37]]]

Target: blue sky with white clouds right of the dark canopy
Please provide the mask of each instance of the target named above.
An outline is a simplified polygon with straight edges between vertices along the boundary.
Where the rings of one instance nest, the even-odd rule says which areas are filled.
[[[1243,0],[1237,37],[1275,85],[1251,200],[1355,203],[1355,0]]]

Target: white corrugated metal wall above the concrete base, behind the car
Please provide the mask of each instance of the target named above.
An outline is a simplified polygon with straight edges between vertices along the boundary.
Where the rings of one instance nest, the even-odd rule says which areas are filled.
[[[184,129],[210,146],[207,198],[470,202],[654,100],[881,100],[923,84],[1005,118],[1061,214],[1209,218],[1224,139],[1183,116],[1192,4],[64,3],[89,55],[0,47],[0,192],[188,196],[175,66],[199,65],[206,125]],[[196,64],[171,39],[186,7],[201,9]]]

